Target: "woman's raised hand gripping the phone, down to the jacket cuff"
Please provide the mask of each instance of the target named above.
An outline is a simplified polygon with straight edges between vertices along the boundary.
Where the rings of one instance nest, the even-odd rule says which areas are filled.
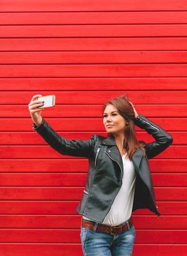
[[[34,95],[28,105],[31,118],[36,126],[40,126],[40,124],[42,124],[41,112],[43,108],[38,107],[41,107],[43,105],[43,101],[37,100],[37,98],[41,96],[41,94]]]

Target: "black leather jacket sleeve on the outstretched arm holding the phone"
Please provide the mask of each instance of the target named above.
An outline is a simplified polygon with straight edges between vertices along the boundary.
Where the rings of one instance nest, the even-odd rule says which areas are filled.
[[[91,152],[96,135],[87,140],[69,140],[61,137],[51,126],[43,119],[40,126],[33,124],[33,129],[61,155],[71,155],[76,157],[88,157]]]

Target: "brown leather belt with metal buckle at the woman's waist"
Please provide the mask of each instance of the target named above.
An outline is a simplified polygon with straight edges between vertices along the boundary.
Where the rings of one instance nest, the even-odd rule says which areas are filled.
[[[130,218],[127,222],[129,223],[129,228],[131,228],[133,226],[132,218]],[[122,223],[120,225],[111,225],[111,226],[98,223],[96,231],[106,232],[111,235],[117,235],[128,230],[127,222]],[[82,219],[81,225],[85,229],[94,230],[96,222]]]

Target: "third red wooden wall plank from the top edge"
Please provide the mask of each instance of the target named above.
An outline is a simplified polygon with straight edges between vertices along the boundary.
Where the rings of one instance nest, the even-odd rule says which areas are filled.
[[[187,36],[187,25],[2,25],[0,35],[1,38],[181,37]]]

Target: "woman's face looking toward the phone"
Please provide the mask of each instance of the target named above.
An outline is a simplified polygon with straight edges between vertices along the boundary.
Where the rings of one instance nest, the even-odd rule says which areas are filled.
[[[125,126],[129,124],[129,121],[125,120],[125,118],[120,115],[114,105],[109,104],[103,113],[103,124],[107,133],[124,135]]]

